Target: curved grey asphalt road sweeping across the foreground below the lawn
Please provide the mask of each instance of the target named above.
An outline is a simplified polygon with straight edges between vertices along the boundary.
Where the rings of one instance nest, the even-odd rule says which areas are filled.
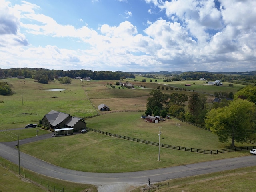
[[[48,136],[51,135],[49,134]],[[32,138],[30,138],[30,142],[31,139]],[[8,145],[10,146],[0,143],[0,156],[7,160],[10,160],[11,162],[14,162],[15,164],[18,164],[18,150],[14,147],[16,145],[15,143],[16,142],[8,143]],[[255,166],[255,158],[256,156],[250,155],[238,158],[201,162],[138,172],[91,173],[58,167],[28,154],[20,152],[20,166],[37,172],[39,174],[72,182],[93,184],[96,186],[118,184],[138,186],[148,184],[148,178],[150,178],[151,183],[154,183],[168,179],[182,178],[211,172]]]

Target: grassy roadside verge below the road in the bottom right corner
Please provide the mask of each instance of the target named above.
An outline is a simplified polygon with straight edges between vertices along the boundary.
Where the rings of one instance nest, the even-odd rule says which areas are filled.
[[[256,166],[239,168],[210,174],[167,180],[151,184],[150,191],[159,192],[254,192]],[[168,188],[169,183],[169,188]],[[158,187],[159,186],[159,187]],[[148,185],[138,187],[131,192],[141,192],[142,188],[149,189]],[[155,188],[153,190],[153,188]],[[147,190],[146,190],[147,191]]]

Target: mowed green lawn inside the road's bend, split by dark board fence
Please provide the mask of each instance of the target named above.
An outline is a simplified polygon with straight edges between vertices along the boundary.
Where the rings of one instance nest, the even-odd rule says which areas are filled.
[[[151,124],[144,122],[139,112],[104,114],[86,122],[90,128],[154,142],[158,142],[161,126],[161,143],[164,144],[208,150],[228,147],[228,144],[218,142],[218,138],[209,131],[182,122],[178,128],[175,126],[178,121],[174,119]],[[58,166],[87,172],[132,172],[249,155],[248,151],[206,155],[161,148],[161,161],[158,162],[158,146],[93,131],[24,144],[20,150]]]

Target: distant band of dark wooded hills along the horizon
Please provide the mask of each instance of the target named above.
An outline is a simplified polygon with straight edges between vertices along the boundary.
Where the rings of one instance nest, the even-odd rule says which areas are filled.
[[[140,73],[144,77],[158,78],[160,72],[143,72]],[[25,78],[34,78],[35,80],[42,80],[45,83],[46,80],[54,80],[57,76],[67,76],[70,78],[76,78],[78,76],[82,78],[90,77],[93,80],[120,80],[121,78],[135,78],[134,74],[122,71],[91,71],[91,70],[49,70],[42,68],[11,68],[0,69],[1,76],[24,76]],[[139,74],[139,73],[138,73]],[[164,74],[164,81],[180,81],[180,80],[198,80],[205,78],[207,80],[220,79],[225,82],[232,82],[236,80],[236,83],[246,84],[256,79],[256,71],[243,72],[243,73],[227,73],[227,72],[162,72]],[[173,76],[170,78],[170,76]]]

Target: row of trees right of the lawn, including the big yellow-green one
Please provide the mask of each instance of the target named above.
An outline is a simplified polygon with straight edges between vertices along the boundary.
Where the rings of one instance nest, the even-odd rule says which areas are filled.
[[[235,147],[235,142],[256,139],[256,85],[246,86],[236,94],[218,92],[216,95],[222,98],[221,102],[212,103],[207,102],[206,95],[197,92],[187,96],[152,90],[150,95],[146,115],[165,117],[170,114],[201,124],[216,134],[220,142],[231,140],[231,147]],[[224,95],[234,99],[227,100]]]

